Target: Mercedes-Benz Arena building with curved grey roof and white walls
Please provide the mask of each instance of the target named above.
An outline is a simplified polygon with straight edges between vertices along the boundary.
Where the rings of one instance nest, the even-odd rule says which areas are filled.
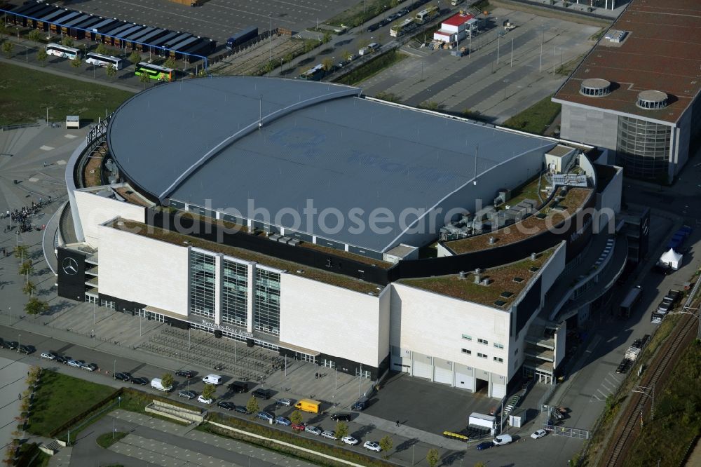
[[[550,153],[585,174],[538,203],[559,229],[424,255],[444,224],[537,179]],[[329,83],[157,86],[68,164],[59,295],[350,374],[502,397],[528,358],[524,330],[590,241],[585,211],[620,201],[616,177],[597,188],[593,156],[605,154]]]

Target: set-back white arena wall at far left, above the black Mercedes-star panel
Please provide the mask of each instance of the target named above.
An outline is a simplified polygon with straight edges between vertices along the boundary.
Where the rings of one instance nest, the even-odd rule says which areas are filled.
[[[123,217],[136,222],[145,222],[146,208],[112,198],[104,198],[89,191],[74,191],[76,205],[83,226],[83,235],[91,246],[97,247],[98,226],[109,219]],[[102,255],[102,251],[100,252]]]

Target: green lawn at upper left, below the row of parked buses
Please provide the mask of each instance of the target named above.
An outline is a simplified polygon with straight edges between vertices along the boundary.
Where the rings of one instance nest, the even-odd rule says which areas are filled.
[[[0,67],[0,125],[44,119],[47,106],[52,121],[62,121],[67,115],[97,121],[104,117],[104,109],[114,111],[132,95],[121,89],[4,63]]]

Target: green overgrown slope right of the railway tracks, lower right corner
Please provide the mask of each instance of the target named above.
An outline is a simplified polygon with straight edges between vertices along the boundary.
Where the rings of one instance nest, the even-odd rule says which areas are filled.
[[[701,434],[701,343],[694,341],[674,365],[663,388],[655,388],[655,419],[647,421],[626,465],[679,466],[690,443]]]

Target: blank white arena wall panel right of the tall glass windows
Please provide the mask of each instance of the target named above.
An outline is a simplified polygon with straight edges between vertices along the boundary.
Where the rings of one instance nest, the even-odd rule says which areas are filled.
[[[388,294],[280,275],[280,341],[379,367],[389,353]]]

